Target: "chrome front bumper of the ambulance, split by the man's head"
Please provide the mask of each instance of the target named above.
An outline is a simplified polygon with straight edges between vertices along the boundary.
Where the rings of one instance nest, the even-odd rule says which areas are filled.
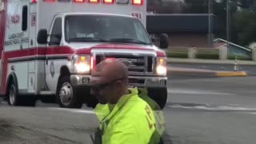
[[[72,86],[91,86],[90,82],[93,79],[90,75],[71,75],[70,82]],[[130,76],[130,87],[158,87],[163,88],[167,85],[167,77],[142,77]]]

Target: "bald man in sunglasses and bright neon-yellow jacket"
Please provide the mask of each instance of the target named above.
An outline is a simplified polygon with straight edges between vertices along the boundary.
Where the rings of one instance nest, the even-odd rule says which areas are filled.
[[[154,112],[138,97],[138,89],[128,88],[127,67],[116,59],[106,59],[92,74],[94,78],[99,76],[92,84],[92,94],[99,102],[95,112],[100,120],[94,143],[159,143]]]

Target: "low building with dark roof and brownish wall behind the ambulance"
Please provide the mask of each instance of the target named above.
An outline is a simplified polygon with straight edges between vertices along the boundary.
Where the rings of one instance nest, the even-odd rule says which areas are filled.
[[[146,28],[150,34],[168,34],[171,47],[209,47],[208,16],[208,14],[149,14]],[[218,30],[216,16],[213,16],[213,24],[212,31],[215,32]]]

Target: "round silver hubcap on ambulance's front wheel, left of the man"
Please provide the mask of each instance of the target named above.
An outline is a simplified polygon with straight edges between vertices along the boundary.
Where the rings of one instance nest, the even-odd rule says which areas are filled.
[[[73,98],[73,89],[70,83],[66,82],[62,85],[62,88],[59,91],[59,97],[61,98],[62,104],[64,106],[70,105],[70,102]]]

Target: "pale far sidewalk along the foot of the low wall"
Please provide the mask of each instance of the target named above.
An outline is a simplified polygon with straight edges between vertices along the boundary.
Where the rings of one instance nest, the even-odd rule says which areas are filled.
[[[211,59],[190,59],[190,58],[167,58],[167,62],[175,63],[208,63],[208,64],[234,64],[234,60],[211,60]],[[256,66],[254,61],[239,61],[238,65]]]

